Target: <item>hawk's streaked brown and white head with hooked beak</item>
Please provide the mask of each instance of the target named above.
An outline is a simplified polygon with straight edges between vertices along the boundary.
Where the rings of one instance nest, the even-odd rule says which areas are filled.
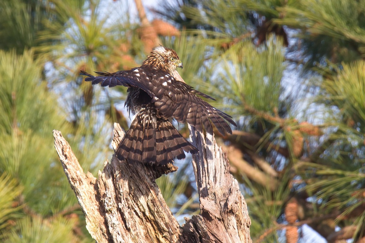
[[[176,51],[161,45],[153,47],[150,55],[147,56],[142,65],[158,68],[169,74],[172,74],[176,67],[183,68],[183,63],[180,61]]]

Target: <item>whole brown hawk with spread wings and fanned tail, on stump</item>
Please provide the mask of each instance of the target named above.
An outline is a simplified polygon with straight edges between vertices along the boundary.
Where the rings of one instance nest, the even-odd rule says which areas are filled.
[[[82,75],[88,76],[85,81],[92,81],[93,85],[128,87],[125,106],[136,116],[116,152],[120,160],[163,165],[175,157],[185,158],[184,151],[197,153],[198,150],[171,124],[172,118],[188,122],[199,132],[204,126],[212,134],[211,121],[220,133],[232,133],[224,120],[236,126],[231,117],[197,95],[213,98],[174,78],[176,67],[183,68],[176,52],[160,45],[153,48],[141,67],[114,73],[96,72],[102,76],[81,71]]]

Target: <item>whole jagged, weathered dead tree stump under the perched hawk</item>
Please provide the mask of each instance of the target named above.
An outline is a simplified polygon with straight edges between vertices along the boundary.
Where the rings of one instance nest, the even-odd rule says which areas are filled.
[[[247,207],[237,181],[229,174],[226,154],[214,137],[204,140],[193,129],[191,134],[200,150],[193,168],[201,213],[180,227],[155,183],[161,174],[176,171],[176,166],[156,168],[113,156],[96,180],[89,172],[85,175],[69,144],[59,131],[53,131],[65,174],[96,242],[251,242]],[[123,136],[115,124],[114,149]]]

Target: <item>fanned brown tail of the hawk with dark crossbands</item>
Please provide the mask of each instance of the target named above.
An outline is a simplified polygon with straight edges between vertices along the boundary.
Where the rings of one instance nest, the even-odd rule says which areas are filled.
[[[151,110],[141,109],[116,151],[120,160],[165,165],[174,158],[185,158],[185,152],[198,150],[187,141],[170,121],[157,118]]]

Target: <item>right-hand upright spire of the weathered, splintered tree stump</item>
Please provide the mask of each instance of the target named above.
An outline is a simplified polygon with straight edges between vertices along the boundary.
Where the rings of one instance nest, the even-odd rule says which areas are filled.
[[[193,168],[201,212],[185,219],[184,230],[195,236],[196,241],[191,242],[252,242],[247,204],[229,173],[227,154],[214,136],[204,138],[193,126],[189,129],[192,143],[199,149],[193,155]]]

